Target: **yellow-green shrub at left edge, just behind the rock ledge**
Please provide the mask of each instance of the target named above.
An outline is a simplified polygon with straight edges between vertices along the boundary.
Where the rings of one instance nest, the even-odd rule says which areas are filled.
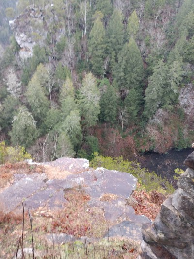
[[[16,163],[31,159],[31,155],[25,151],[24,147],[9,147],[5,142],[0,142],[0,164]]]

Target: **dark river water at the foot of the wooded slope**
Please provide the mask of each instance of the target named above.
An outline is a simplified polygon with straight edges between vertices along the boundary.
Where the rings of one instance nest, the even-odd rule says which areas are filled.
[[[175,184],[173,175],[176,168],[186,170],[187,167],[183,164],[186,157],[192,153],[194,149],[187,148],[177,151],[175,149],[169,150],[166,154],[159,154],[155,152],[148,152],[139,157],[139,162],[142,167],[146,167],[149,171],[154,171],[162,178],[166,177],[170,183]]]

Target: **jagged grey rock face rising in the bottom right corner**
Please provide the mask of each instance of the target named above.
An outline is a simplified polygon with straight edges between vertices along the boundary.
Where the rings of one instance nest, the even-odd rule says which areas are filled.
[[[164,201],[153,224],[142,227],[138,259],[194,258],[194,152],[185,160],[189,168],[178,189]]]

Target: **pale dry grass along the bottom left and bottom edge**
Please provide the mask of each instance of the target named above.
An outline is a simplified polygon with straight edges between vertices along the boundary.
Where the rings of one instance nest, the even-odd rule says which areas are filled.
[[[85,197],[83,201],[84,199]],[[18,241],[22,235],[22,218],[23,215],[0,214],[0,258],[11,259],[16,255]],[[95,224],[96,221],[97,218]],[[49,243],[45,239],[45,234],[52,232],[52,223],[51,218],[33,216],[34,250],[37,259],[135,259],[138,254],[138,243],[122,238],[102,238],[88,242],[84,238],[76,240],[75,237],[74,241],[63,245]],[[87,231],[85,233],[89,234]],[[32,248],[31,227],[27,213],[25,214],[23,247]],[[32,259],[32,254],[28,254],[26,250],[24,254],[25,259]]]

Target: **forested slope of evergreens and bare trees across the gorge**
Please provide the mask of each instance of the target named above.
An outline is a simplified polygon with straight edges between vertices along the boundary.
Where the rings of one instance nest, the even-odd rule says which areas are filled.
[[[193,0],[0,0],[0,142],[37,161],[186,148],[187,86]]]

